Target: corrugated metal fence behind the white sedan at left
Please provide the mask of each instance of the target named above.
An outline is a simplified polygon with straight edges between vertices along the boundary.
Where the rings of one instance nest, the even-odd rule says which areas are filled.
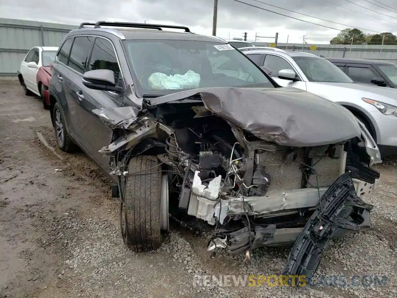
[[[0,18],[0,79],[15,79],[33,46],[59,46],[77,26]]]

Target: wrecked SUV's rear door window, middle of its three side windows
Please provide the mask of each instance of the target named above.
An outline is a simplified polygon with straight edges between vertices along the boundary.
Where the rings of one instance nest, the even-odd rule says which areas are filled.
[[[69,63],[67,64],[70,68],[73,68],[81,74],[84,73],[88,52],[91,50],[93,39],[94,37],[88,36],[75,37],[70,51]]]

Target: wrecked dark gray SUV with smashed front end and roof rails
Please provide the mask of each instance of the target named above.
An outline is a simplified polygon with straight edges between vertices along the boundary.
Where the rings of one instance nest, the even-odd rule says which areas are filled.
[[[60,46],[49,97],[60,149],[81,147],[114,181],[133,250],[196,217],[214,227],[209,251],[294,244],[284,275],[310,278],[332,238],[370,227],[361,197],[380,154],[365,126],[279,87],[222,39],[83,23]]]

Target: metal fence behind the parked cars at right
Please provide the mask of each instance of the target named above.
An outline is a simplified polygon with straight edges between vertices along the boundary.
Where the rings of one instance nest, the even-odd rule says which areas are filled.
[[[256,45],[271,46],[270,43],[256,43]],[[316,50],[311,50],[311,46],[316,46]],[[397,64],[397,45],[303,45],[299,43],[278,43],[277,47],[283,50],[309,52],[324,57],[385,60]]]

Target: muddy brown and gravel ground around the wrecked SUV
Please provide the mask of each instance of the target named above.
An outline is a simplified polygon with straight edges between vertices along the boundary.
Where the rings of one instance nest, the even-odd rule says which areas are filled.
[[[48,111],[15,83],[0,83],[0,128],[0,297],[397,297],[397,158],[377,166],[381,179],[364,198],[375,205],[372,228],[335,240],[313,279],[347,276],[347,285],[197,286],[196,275],[278,275],[289,248],[211,257],[210,228],[195,221],[200,236],[173,225],[159,250],[131,252],[109,181],[83,153],[56,148]],[[368,286],[351,285],[353,275]],[[386,286],[374,284],[384,275]]]

